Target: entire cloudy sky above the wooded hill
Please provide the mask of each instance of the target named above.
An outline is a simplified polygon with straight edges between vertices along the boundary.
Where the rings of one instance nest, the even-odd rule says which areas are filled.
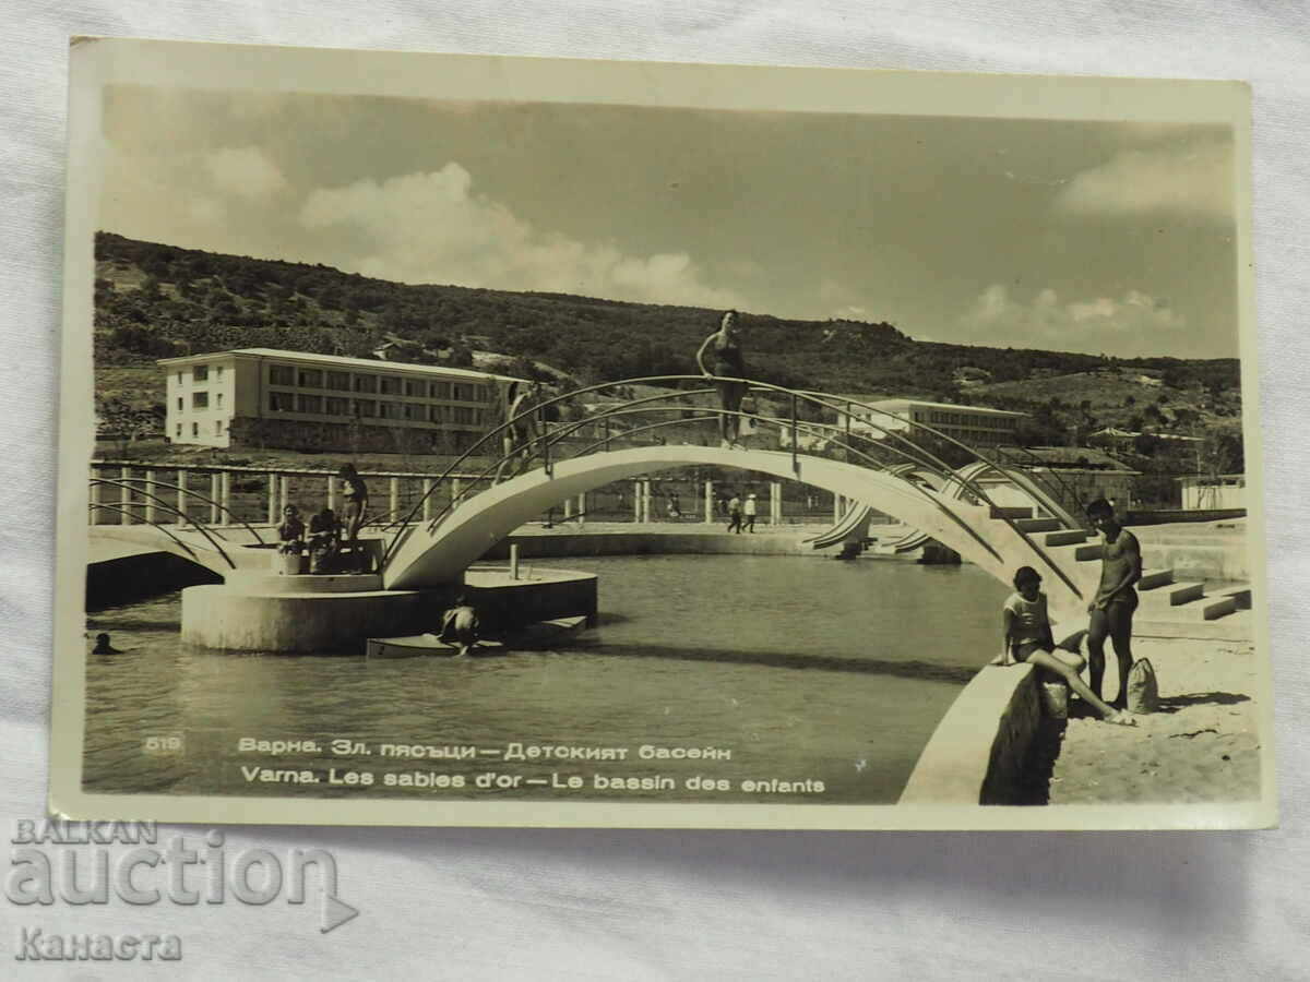
[[[111,86],[100,228],[403,283],[1235,357],[1226,127]]]

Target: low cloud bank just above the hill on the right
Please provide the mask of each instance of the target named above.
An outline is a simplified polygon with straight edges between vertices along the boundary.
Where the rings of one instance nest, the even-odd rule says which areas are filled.
[[[1158,355],[1176,347],[1187,318],[1167,301],[1131,289],[1117,300],[1094,297],[1062,304],[1047,288],[1028,301],[1003,284],[984,289],[960,318],[967,343],[994,347],[1114,351]]]

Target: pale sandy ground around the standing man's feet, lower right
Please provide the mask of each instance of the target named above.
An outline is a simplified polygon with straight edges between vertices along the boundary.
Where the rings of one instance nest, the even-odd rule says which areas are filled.
[[[1108,649],[1108,644],[1106,646]],[[1070,706],[1051,778],[1051,804],[1242,801],[1259,797],[1255,649],[1244,642],[1141,638],[1161,708],[1114,727]],[[1112,666],[1114,655],[1106,652]],[[1106,695],[1117,690],[1107,666]]]

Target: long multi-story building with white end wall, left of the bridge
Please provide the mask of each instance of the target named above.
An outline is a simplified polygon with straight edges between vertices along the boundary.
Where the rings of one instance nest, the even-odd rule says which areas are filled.
[[[169,440],[376,453],[458,453],[499,426],[523,380],[274,348],[159,361]],[[499,448],[493,448],[499,452]]]

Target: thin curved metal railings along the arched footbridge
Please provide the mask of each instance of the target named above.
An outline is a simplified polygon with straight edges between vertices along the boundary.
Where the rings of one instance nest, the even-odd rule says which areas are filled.
[[[878,470],[887,470],[888,462],[884,460],[879,460],[878,457],[875,457],[872,453],[869,452],[870,449],[876,449],[879,454],[889,454],[893,458],[897,458],[897,462],[910,462],[916,464],[917,466],[925,467],[943,482],[958,483],[967,492],[967,498],[972,499],[975,503],[990,507],[993,509],[993,516],[1000,521],[1005,522],[1014,532],[1015,536],[1023,539],[1032,550],[1032,553],[1043,562],[1044,566],[1047,566],[1062,583],[1065,583],[1065,585],[1070,591],[1073,591],[1076,596],[1078,597],[1082,596],[1078,587],[1058,567],[1058,564],[1056,564],[1051,559],[1047,551],[1041,549],[1041,546],[1038,542],[1035,542],[1032,537],[1006,513],[1003,508],[996,507],[994,501],[992,500],[986,490],[979,482],[962,475],[959,473],[959,469],[950,466],[933,450],[922,446],[920,443],[916,443],[913,439],[909,437],[909,433],[913,432],[921,436],[927,435],[933,440],[939,441],[941,444],[956,448],[958,450],[963,452],[969,460],[985,462],[992,470],[994,470],[998,474],[1007,473],[1007,469],[1000,461],[993,460],[989,456],[985,456],[976,446],[964,444],[963,441],[926,423],[913,419],[907,419],[904,416],[897,416],[896,414],[883,407],[872,406],[854,399],[832,397],[825,393],[817,393],[812,390],[787,389],[785,386],[760,382],[757,380],[727,378],[720,381],[741,382],[747,385],[748,391],[768,393],[770,395],[783,397],[786,401],[790,401],[790,407],[791,407],[790,418],[762,416],[761,414],[756,412],[741,412],[740,410],[731,411],[731,410],[724,410],[722,407],[696,406],[683,402],[684,399],[690,397],[713,393],[714,389],[692,389],[692,390],[677,389],[675,391],[665,391],[658,395],[643,397],[639,399],[627,399],[625,402],[613,406],[607,406],[600,412],[595,412],[590,416],[586,416],[584,419],[574,420],[554,428],[552,428],[546,414],[546,410],[550,409],[552,406],[559,406],[563,403],[575,402],[582,395],[603,391],[607,389],[617,389],[621,386],[633,386],[633,385],[655,385],[655,384],[685,385],[686,382],[694,382],[694,381],[705,381],[705,378],[703,376],[647,376],[642,378],[627,378],[617,382],[604,382],[599,385],[586,386],[583,389],[578,389],[570,393],[563,393],[561,395],[542,399],[529,410],[525,410],[515,415],[512,419],[506,420],[500,427],[496,427],[495,429],[485,433],[479,440],[477,440],[472,446],[469,446],[458,460],[456,460],[451,465],[451,469],[453,470],[455,467],[460,466],[464,461],[473,457],[478,450],[481,450],[487,444],[495,446],[498,441],[503,441],[506,436],[510,436],[511,446],[508,448],[508,452],[503,453],[498,460],[495,460],[491,465],[489,465],[482,471],[479,478],[491,478],[494,481],[504,479],[507,469],[512,471],[510,477],[514,477],[525,470],[538,457],[541,460],[542,469],[549,477],[553,473],[554,464],[559,460],[558,445],[563,439],[578,432],[583,427],[595,426],[597,423],[604,423],[608,427],[610,424],[610,420],[613,419],[641,412],[669,411],[671,409],[677,409],[683,411],[692,409],[692,410],[700,410],[702,412],[700,418],[688,419],[680,416],[676,420],[665,420],[652,427],[646,427],[646,429],[654,429],[662,426],[718,420],[723,416],[736,416],[740,419],[762,420],[765,423],[778,426],[779,431],[783,427],[786,427],[790,431],[791,435],[790,449],[793,454],[793,467],[798,471],[799,471],[798,458],[800,454],[799,433],[806,432],[810,435],[815,433],[825,435],[824,439],[827,440],[828,446],[840,450],[846,457],[846,460],[849,460],[852,456],[855,456],[858,460],[861,460],[861,462],[866,464],[866,466],[871,466]],[[838,424],[802,420],[799,412],[800,405],[819,407],[821,411],[834,414],[838,420]],[[855,416],[853,410],[858,410],[862,414],[861,416],[858,416],[861,428],[876,431],[880,435],[879,440],[865,441],[863,446],[854,445],[854,439],[852,435],[852,422]],[[888,423],[888,426],[872,422],[875,416],[882,416],[884,422]],[[519,439],[524,428],[529,429],[531,436],[528,440]],[[612,445],[612,440],[613,436],[607,431],[607,436],[604,439],[596,440],[595,443],[584,448],[583,452],[605,449]],[[553,457],[553,448],[555,449],[554,457]],[[811,452],[807,450],[807,453]],[[968,526],[967,522],[964,522],[958,515],[951,512],[948,507],[943,505],[941,500],[938,500],[933,495],[927,495],[927,492],[922,487],[918,487],[912,481],[907,481],[907,484],[918,491],[920,494],[926,495],[930,500],[933,500],[933,503],[938,508],[942,508],[945,512],[947,512],[951,520],[954,520],[956,524],[959,524],[962,528],[969,532],[971,536],[980,539],[980,545],[982,545],[985,549],[988,549],[994,554],[994,549],[992,549],[990,543],[986,542],[985,538],[979,537],[977,533],[975,533]],[[435,532],[436,528],[440,525],[440,522],[445,518],[445,516],[448,516],[453,511],[453,508],[466,496],[468,496],[466,494],[461,494],[458,496],[452,495],[451,499],[445,503],[445,505],[438,512],[438,515],[435,515],[431,518],[427,518],[428,532]],[[397,534],[392,537],[392,541],[388,545],[386,553],[383,559],[384,566],[388,562],[390,562],[401,541],[405,538],[405,536],[400,533],[402,533],[405,529],[407,529],[410,525],[414,524],[419,511],[427,501],[427,498],[428,495],[424,494],[423,499],[421,499],[421,501],[417,503],[414,508],[410,509],[409,513],[400,517],[396,522],[393,522],[389,526],[389,530],[393,530]]]

